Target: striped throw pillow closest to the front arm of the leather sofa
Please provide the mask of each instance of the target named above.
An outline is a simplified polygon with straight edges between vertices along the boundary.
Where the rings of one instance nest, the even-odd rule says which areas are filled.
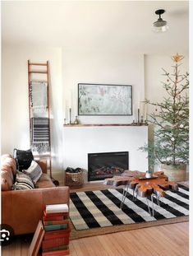
[[[16,172],[16,183],[13,184],[12,189],[21,190],[21,189],[34,189],[33,181],[30,179],[29,175],[17,171]]]

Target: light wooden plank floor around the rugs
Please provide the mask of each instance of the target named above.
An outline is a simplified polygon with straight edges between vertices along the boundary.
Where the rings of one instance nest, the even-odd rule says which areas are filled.
[[[107,189],[103,184],[88,184],[81,190]],[[2,256],[27,256],[31,237],[18,236],[2,248]],[[188,256],[189,223],[128,230],[70,241],[71,256]]]

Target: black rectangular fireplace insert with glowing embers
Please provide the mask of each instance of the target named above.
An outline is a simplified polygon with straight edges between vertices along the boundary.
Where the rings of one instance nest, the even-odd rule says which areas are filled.
[[[128,151],[88,154],[88,180],[102,180],[122,175],[128,170]]]

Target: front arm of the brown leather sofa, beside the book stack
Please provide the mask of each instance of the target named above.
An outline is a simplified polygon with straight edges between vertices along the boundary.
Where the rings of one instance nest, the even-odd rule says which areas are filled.
[[[46,204],[54,203],[69,205],[69,187],[2,191],[2,224],[15,235],[33,233]]]

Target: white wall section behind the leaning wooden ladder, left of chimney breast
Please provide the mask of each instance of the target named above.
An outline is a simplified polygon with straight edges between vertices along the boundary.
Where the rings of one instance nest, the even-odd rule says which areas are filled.
[[[62,50],[2,45],[2,154],[30,148],[27,60],[50,65],[53,173],[62,170]],[[54,176],[54,175],[53,175]]]

